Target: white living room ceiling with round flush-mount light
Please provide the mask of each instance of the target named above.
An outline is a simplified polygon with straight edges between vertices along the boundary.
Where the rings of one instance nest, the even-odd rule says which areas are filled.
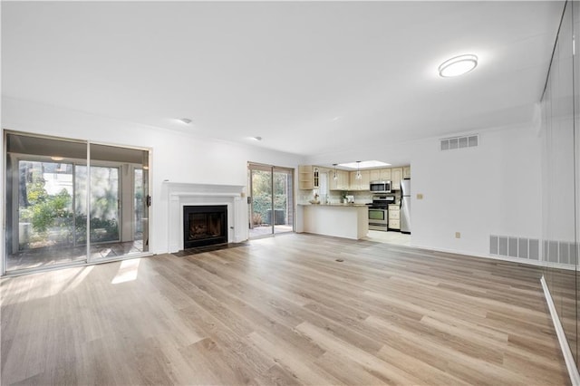
[[[2,2],[2,94],[304,156],[363,150],[531,121],[562,9]],[[478,68],[440,78],[461,53]]]

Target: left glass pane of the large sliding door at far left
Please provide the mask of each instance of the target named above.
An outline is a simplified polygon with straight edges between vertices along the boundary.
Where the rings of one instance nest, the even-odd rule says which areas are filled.
[[[82,142],[6,134],[6,272],[86,260],[74,210],[74,164]]]

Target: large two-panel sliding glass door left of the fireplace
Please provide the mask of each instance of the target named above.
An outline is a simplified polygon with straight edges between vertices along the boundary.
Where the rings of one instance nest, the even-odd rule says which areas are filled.
[[[12,132],[5,139],[5,272],[149,250],[147,150]]]

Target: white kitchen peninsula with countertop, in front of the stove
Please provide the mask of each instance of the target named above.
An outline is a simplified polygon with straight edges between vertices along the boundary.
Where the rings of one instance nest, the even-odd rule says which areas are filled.
[[[304,232],[358,240],[369,231],[369,209],[364,204],[298,204]]]

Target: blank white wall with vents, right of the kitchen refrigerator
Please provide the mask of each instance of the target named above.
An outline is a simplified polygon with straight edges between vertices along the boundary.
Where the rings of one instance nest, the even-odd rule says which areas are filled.
[[[365,159],[411,164],[411,245],[490,256],[489,235],[541,238],[537,128],[530,124],[478,133],[478,148],[440,151],[439,139],[433,138],[366,150]],[[361,155],[344,151],[334,157]]]

